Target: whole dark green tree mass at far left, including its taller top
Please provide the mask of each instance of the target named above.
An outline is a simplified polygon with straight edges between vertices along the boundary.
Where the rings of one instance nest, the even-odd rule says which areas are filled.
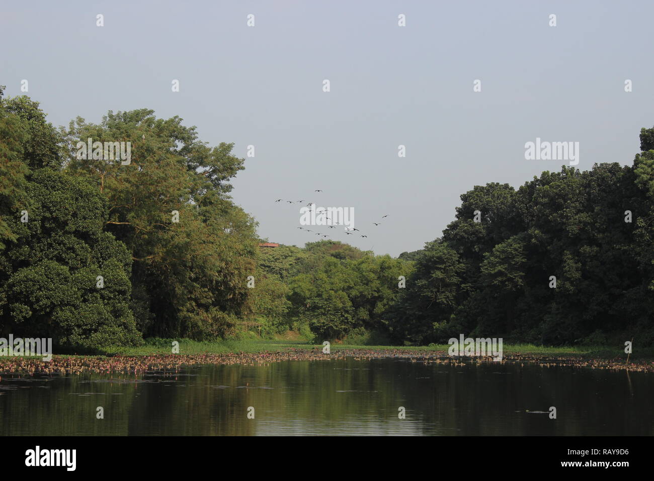
[[[69,347],[138,344],[131,258],[103,227],[107,204],[84,179],[52,169],[60,146],[38,105],[2,101],[0,328]],[[6,136],[5,136],[6,134]],[[98,277],[103,287],[98,287]]]

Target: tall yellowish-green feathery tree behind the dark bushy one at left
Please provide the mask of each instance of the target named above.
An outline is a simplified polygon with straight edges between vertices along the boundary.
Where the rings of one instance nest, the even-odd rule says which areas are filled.
[[[233,204],[229,179],[242,169],[231,144],[210,148],[181,118],[141,109],[101,124],[78,118],[62,132],[68,171],[109,203],[106,230],[128,247],[139,325],[154,336],[221,336],[233,329],[254,273],[254,221]],[[77,158],[78,141],[131,142],[128,165]]]

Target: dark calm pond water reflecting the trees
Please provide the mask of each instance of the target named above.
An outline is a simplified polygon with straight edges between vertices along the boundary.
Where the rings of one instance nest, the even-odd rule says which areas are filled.
[[[3,376],[0,435],[654,435],[654,376],[351,358]]]

